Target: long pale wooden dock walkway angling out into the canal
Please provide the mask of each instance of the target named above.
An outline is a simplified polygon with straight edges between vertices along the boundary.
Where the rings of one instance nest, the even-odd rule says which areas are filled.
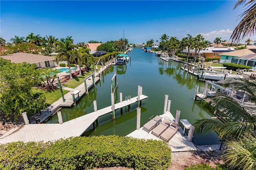
[[[144,100],[148,96],[140,95],[140,100]],[[125,100],[115,104],[115,109],[128,106],[138,102],[137,96],[130,100]],[[54,124],[29,124],[20,125],[5,133],[0,137],[0,143],[10,143],[16,141],[56,141],[58,139],[66,139],[69,137],[80,136],[98,117],[112,112],[111,106],[105,107],[98,111],[88,113],[76,119],[64,122],[62,125]]]

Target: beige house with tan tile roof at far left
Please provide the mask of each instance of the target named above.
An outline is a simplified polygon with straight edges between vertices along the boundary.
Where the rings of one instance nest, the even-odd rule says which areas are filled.
[[[54,59],[55,57],[45,56],[45,55],[37,55],[30,53],[14,53],[10,55],[1,56],[4,59],[10,60],[12,63],[30,63],[36,64],[36,68],[49,68],[55,67]]]

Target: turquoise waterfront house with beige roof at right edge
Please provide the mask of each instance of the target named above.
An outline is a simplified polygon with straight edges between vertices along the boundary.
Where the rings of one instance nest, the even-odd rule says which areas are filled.
[[[255,67],[256,49],[241,49],[227,53],[222,53],[220,57],[220,63],[236,63],[245,66]]]

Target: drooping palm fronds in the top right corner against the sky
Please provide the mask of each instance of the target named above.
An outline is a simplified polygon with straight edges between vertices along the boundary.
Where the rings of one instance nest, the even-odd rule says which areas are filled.
[[[254,0],[238,0],[234,6],[234,9],[240,5],[246,7],[246,10],[240,14],[240,19],[242,20],[240,23],[238,23],[230,37],[233,43],[238,43],[240,39],[244,39],[245,37],[254,35],[256,33],[256,2]]]

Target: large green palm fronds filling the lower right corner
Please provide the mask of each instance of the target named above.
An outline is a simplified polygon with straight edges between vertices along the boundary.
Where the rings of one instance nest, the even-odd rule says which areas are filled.
[[[233,81],[227,81],[224,83],[224,86],[232,86],[234,90],[243,90],[244,93],[250,97],[252,103],[256,103],[256,82],[245,79],[235,79]],[[218,136],[224,140],[228,146],[234,145],[233,142],[241,144],[242,141],[250,139],[251,137],[255,138],[256,131],[256,115],[248,112],[246,107],[242,107],[238,102],[236,102],[232,97],[226,95],[216,95],[210,97],[211,101],[206,106],[211,106],[212,111],[215,111],[218,117],[222,117],[222,121],[218,119],[202,119],[197,120],[194,123],[195,130],[198,133],[210,133],[211,131],[216,131]],[[255,111],[255,108],[254,108]],[[233,144],[232,144],[233,143]],[[249,149],[245,153],[241,153],[240,150],[230,151],[227,147],[224,154],[226,160],[228,160],[228,165],[230,167],[243,167],[244,163],[250,162],[252,165],[249,169],[255,168],[255,159],[254,162],[250,161],[252,154],[255,157],[255,150],[252,148],[256,147],[256,143],[250,143],[248,145]],[[247,147],[247,148],[248,148]],[[237,147],[238,148],[238,147]],[[232,148],[231,148],[232,149]],[[239,157],[243,155],[243,161]],[[234,164],[235,162],[235,164]],[[247,164],[247,163],[246,163]]]

